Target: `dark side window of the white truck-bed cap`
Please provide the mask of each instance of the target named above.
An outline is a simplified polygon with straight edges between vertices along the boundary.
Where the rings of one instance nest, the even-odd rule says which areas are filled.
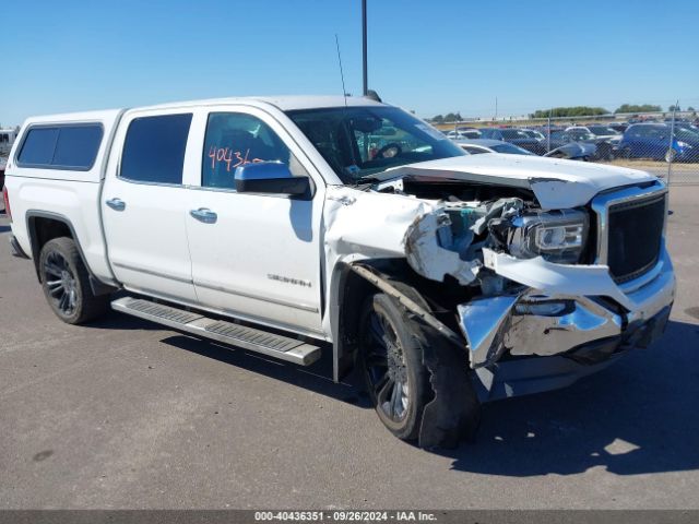
[[[17,156],[20,167],[91,169],[102,143],[97,123],[29,128]]]

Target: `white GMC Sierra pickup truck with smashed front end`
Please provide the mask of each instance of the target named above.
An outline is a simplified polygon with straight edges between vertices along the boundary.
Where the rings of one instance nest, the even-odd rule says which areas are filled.
[[[358,97],[31,118],[4,199],[61,320],[111,306],[301,366],[329,352],[425,446],[648,346],[675,293],[655,177],[471,156]]]

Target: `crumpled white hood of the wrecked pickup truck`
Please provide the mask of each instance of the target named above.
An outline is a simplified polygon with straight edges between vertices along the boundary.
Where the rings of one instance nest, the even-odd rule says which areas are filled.
[[[544,210],[585,205],[601,191],[657,180],[625,167],[499,153],[408,164],[386,174],[528,188]]]

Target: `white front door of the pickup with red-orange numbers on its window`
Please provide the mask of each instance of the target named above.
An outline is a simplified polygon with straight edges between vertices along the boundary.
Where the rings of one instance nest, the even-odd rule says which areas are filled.
[[[282,124],[260,109],[202,109],[196,135],[200,164],[186,219],[199,300],[242,319],[320,334],[318,171]],[[260,160],[311,175],[315,196],[237,193],[235,168]]]

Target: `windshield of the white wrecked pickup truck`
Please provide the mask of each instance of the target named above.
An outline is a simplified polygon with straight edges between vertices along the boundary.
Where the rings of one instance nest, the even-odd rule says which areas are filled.
[[[300,109],[287,115],[347,184],[390,167],[466,154],[396,107]]]

